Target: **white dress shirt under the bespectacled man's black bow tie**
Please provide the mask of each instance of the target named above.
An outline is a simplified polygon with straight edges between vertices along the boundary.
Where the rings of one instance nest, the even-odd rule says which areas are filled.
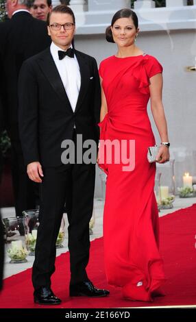
[[[51,55],[56,64],[56,68],[58,69],[58,73],[60,74],[60,77],[62,79],[62,84],[64,85],[66,95],[68,96],[71,103],[71,108],[74,112],[79,95],[79,88],[81,86],[79,64],[75,55],[74,58],[65,56],[62,60],[60,60],[58,58],[59,50],[62,51],[60,47],[52,42],[50,47]]]

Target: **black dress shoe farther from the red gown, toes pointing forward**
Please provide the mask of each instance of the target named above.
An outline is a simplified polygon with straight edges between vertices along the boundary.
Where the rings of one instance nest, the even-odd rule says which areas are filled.
[[[53,294],[53,291],[48,286],[40,287],[34,290],[34,303],[43,305],[61,304],[61,300]]]

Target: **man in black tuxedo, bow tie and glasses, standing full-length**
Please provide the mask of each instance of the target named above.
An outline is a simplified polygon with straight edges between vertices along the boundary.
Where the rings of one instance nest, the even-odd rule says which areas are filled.
[[[62,163],[62,142],[77,134],[83,142],[99,140],[97,123],[101,95],[94,58],[73,49],[75,16],[66,5],[53,8],[48,18],[51,47],[27,60],[19,77],[19,125],[27,173],[42,186],[40,225],[32,280],[34,301],[60,304],[51,290],[56,239],[64,201],[69,219],[70,296],[108,295],[88,280],[89,221],[93,213],[95,164]],[[73,151],[71,151],[72,153]]]

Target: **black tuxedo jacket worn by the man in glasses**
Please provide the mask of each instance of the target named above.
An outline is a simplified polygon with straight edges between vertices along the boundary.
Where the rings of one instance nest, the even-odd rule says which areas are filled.
[[[81,88],[75,112],[64,90],[50,49],[26,60],[19,75],[19,129],[25,163],[59,166],[62,141],[75,124],[83,140],[99,140],[101,91],[95,58],[75,51]],[[71,75],[70,75],[71,77]]]

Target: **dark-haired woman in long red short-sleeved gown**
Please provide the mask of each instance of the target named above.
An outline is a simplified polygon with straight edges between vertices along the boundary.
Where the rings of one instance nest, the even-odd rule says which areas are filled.
[[[116,42],[118,51],[99,67],[102,102],[98,164],[108,175],[103,217],[108,283],[121,286],[127,299],[152,301],[161,295],[165,277],[158,251],[156,164],[147,160],[147,147],[155,145],[147,115],[149,98],[162,143],[156,157],[159,163],[169,160],[169,138],[162,106],[162,66],[136,47],[138,31],[138,18],[130,9],[114,14],[106,29],[106,39]],[[106,140],[118,141],[121,156],[131,160],[129,170],[123,169],[125,158],[115,162],[114,149],[105,145]]]

